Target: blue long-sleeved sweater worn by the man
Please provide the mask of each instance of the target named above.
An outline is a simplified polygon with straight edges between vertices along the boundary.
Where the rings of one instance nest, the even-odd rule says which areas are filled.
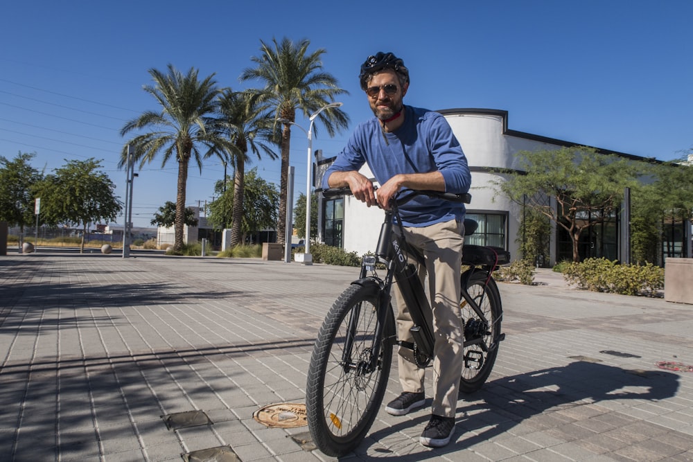
[[[383,132],[376,117],[358,125],[347,146],[326,170],[322,187],[329,187],[332,172],[359,170],[367,163],[379,184],[400,173],[439,170],[445,179],[446,193],[468,192],[471,175],[467,159],[448,121],[428,109],[405,106],[404,110],[403,125],[392,133]],[[414,227],[463,220],[464,211],[464,204],[427,196],[417,196],[400,208],[403,224]]]

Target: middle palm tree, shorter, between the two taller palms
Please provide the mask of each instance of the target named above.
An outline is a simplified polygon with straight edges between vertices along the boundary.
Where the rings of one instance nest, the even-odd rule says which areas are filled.
[[[258,105],[257,94],[253,91],[226,89],[219,98],[218,113],[218,130],[233,143],[233,149],[228,154],[234,166],[230,240],[231,247],[234,247],[238,245],[242,235],[245,163],[250,161],[248,151],[252,151],[258,159],[261,159],[261,150],[270,159],[277,159],[277,154],[265,142],[278,144],[280,135],[274,130],[274,115]]]

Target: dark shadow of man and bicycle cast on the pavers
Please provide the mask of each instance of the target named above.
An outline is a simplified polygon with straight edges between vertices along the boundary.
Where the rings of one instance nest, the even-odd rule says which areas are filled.
[[[503,377],[486,383],[482,390],[470,395],[460,394],[457,432],[448,446],[436,452],[417,446],[405,456],[378,451],[382,455],[372,459],[433,459],[487,441],[523,420],[552,409],[598,405],[608,400],[664,400],[675,396],[678,387],[679,377],[673,373],[631,371],[588,361]],[[423,415],[370,434],[358,449],[359,455],[365,456],[363,452],[367,445],[377,444],[380,439],[410,427],[422,427],[428,418],[428,415]]]

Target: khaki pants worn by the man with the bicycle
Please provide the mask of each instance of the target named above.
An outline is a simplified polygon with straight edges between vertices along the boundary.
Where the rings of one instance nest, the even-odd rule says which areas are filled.
[[[395,229],[398,231],[397,227]],[[419,267],[421,282],[428,273],[428,289],[432,294],[432,312],[435,338],[433,359],[433,406],[432,414],[455,417],[459,380],[462,376],[462,344],[464,326],[459,313],[459,276],[464,245],[464,225],[455,220],[437,223],[423,228],[405,227],[407,243],[421,251],[426,268]],[[410,260],[410,263],[416,263]],[[413,341],[410,328],[414,325],[403,303],[397,284],[392,287],[397,308],[397,331],[400,340]],[[399,381],[403,391],[419,393],[423,389],[425,369],[414,362],[412,350],[399,348]]]

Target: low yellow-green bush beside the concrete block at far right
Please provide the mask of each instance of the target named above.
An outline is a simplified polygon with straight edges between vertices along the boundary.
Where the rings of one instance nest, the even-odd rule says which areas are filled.
[[[616,260],[587,258],[563,271],[565,281],[580,289],[622,295],[655,296],[664,288],[664,269],[647,265],[620,265]]]

